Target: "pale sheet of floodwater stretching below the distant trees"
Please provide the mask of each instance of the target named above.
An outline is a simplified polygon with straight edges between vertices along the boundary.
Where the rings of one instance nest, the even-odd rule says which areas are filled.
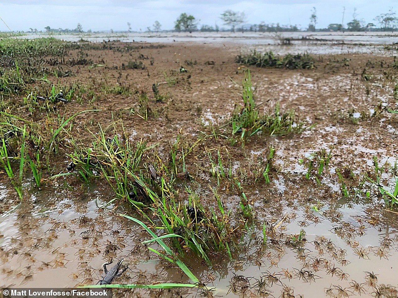
[[[47,37],[46,33],[30,34],[20,38]],[[91,42],[120,40],[123,42],[197,42],[203,44],[234,44],[242,49],[272,50],[277,54],[309,52],[312,54],[372,53],[386,55],[385,45],[397,40],[394,32],[281,32],[281,33],[83,33],[52,34],[67,41],[81,38]],[[283,39],[291,38],[291,44],[281,46]],[[388,54],[392,51],[387,51]]]

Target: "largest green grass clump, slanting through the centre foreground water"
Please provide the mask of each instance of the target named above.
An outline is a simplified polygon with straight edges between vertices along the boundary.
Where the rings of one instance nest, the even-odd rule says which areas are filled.
[[[91,148],[75,146],[71,155],[72,170],[83,181],[107,181],[118,198],[127,199],[137,208],[148,227],[161,230],[160,235],[178,235],[169,241],[179,254],[192,252],[207,263],[210,252],[230,254],[234,242],[229,217],[221,204],[218,209],[205,207],[189,188],[176,189],[174,169],[150,154],[153,147],[142,140],[134,144],[125,133],[120,138],[105,138],[101,127],[99,135],[100,140]],[[144,160],[151,160],[153,165]]]

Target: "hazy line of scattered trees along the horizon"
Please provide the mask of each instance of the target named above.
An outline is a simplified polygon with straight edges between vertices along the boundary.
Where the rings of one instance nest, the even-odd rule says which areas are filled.
[[[201,31],[201,32],[219,32],[219,31],[253,31],[253,32],[281,32],[281,31],[395,31],[398,26],[398,17],[396,17],[396,13],[392,12],[392,8],[387,13],[381,13],[376,16],[373,20],[377,21],[378,25],[374,23],[366,23],[364,19],[358,19],[356,8],[354,8],[354,12],[352,14],[352,20],[347,23],[347,27],[343,26],[344,22],[344,13],[345,7],[343,7],[343,19],[341,23],[331,23],[326,28],[317,28],[316,24],[318,23],[318,16],[316,12],[316,8],[313,7],[310,14],[310,23],[308,27],[304,30],[298,29],[297,25],[280,25],[276,24],[267,24],[264,21],[261,21],[259,24],[246,24],[246,15],[244,12],[236,12],[232,10],[226,10],[220,15],[220,19],[223,21],[223,25],[228,26],[228,29],[221,28],[216,24],[214,27],[211,25],[201,25],[199,28],[199,21],[193,15],[188,15],[187,13],[181,13],[174,22],[174,30],[177,32],[193,32],[193,31]],[[244,25],[246,24],[246,25]],[[127,22],[128,31],[131,30],[131,23]],[[149,32],[160,32],[162,25],[159,21],[155,21],[151,27],[146,27],[146,31]],[[29,28],[29,32],[37,33],[37,29]],[[54,29],[50,26],[44,28],[46,32],[54,33],[82,33],[83,28],[80,23],[78,23],[75,29]],[[113,29],[110,29],[113,33]],[[142,31],[140,29],[140,31]],[[163,30],[170,31],[170,30]],[[39,31],[42,32],[42,31]],[[92,32],[91,29],[88,29],[86,32]]]

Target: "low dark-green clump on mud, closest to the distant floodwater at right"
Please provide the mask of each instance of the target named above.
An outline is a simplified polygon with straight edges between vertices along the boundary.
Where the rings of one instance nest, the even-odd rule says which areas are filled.
[[[272,51],[261,53],[256,50],[248,54],[239,54],[235,61],[244,65],[257,67],[277,67],[289,69],[312,69],[315,67],[314,58],[308,53],[286,54],[283,58],[275,56]]]

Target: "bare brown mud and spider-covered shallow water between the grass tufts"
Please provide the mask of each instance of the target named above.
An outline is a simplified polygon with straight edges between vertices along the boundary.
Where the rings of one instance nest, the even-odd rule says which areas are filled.
[[[104,66],[75,65],[69,67],[72,76],[49,79],[80,86],[105,82],[147,94],[153,94],[152,84],[159,83],[159,92],[168,98],[156,103],[150,96],[152,114],[144,120],[131,112],[138,105],[134,94],[107,93],[93,101],[75,97],[58,106],[60,114],[101,111],[71,121],[74,138],[89,146],[94,140],[89,130],[98,135],[98,123],[113,137],[120,133],[122,119],[132,142],[143,138],[166,158],[169,142],[178,135],[190,144],[212,128],[230,135],[226,123],[234,106],[242,104],[243,73],[234,62],[240,48],[143,43],[137,50],[121,51],[128,45],[109,42],[103,50],[88,50],[87,59]],[[141,60],[146,69],[122,69],[122,63],[140,55],[149,58]],[[185,60],[196,63],[188,65]],[[216,255],[210,267],[195,258],[184,259],[208,290],[114,293],[127,297],[397,297],[398,210],[386,207],[374,186],[369,186],[369,195],[344,196],[336,174],[340,170],[345,185],[354,189],[365,174],[375,172],[376,156],[383,168],[380,183],[386,190],[392,187],[398,117],[377,112],[385,106],[398,107],[394,99],[397,71],[388,66],[392,63],[388,56],[344,54],[315,56],[314,69],[249,67],[259,113],[273,113],[279,102],[281,111],[293,108],[298,119],[314,126],[285,137],[257,134],[234,146],[222,137],[206,138],[186,157],[193,177],[188,184],[202,204],[217,204],[211,191],[215,187],[232,214],[240,213],[240,194],[228,181],[217,186],[207,152],[219,149],[228,154],[232,171],[242,171],[241,184],[253,206],[255,223],[236,243],[241,253],[232,260],[227,254]],[[181,65],[187,73],[179,73]],[[163,73],[178,82],[168,84]],[[270,145],[276,150],[270,183],[253,183],[245,178],[253,175],[250,165],[263,159]],[[321,149],[332,150],[330,163],[319,182],[313,176],[306,179],[302,160]],[[52,175],[66,173],[71,153],[66,146],[60,148]],[[7,176],[0,173],[0,287],[93,285],[101,280],[104,262],[121,258],[128,269],[113,283],[190,282],[181,270],[141,244],[149,235],[139,225],[119,216],[137,215],[134,208],[118,200],[103,207],[115,198],[108,185],[82,183],[73,176],[51,180],[50,176],[43,177],[41,190],[33,186],[33,179],[27,179],[19,202]],[[261,238],[263,225],[266,240]],[[292,238],[301,230],[305,240],[298,248]],[[153,243],[149,247],[159,249]]]

